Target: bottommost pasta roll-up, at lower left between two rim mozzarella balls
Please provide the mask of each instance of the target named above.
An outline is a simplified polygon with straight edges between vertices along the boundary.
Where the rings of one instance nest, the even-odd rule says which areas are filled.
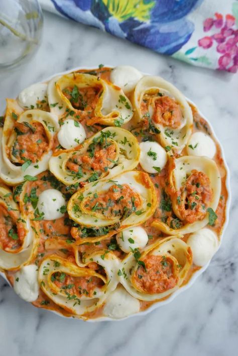
[[[120,263],[112,253],[104,257],[99,252],[84,262],[80,267],[65,258],[50,255],[39,268],[39,284],[49,302],[72,315],[82,316],[101,307],[118,283],[112,271]]]

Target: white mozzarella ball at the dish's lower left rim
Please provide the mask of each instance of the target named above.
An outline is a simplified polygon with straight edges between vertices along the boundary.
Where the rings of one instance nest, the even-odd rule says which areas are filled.
[[[15,274],[14,290],[27,302],[34,302],[39,295],[38,267],[36,265],[24,266]]]

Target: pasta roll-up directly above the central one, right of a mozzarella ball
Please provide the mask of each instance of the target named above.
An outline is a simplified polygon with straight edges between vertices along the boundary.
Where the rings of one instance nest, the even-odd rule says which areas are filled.
[[[51,172],[65,185],[111,178],[134,169],[140,148],[129,131],[108,127],[86,140],[76,150],[59,151],[49,161]]]

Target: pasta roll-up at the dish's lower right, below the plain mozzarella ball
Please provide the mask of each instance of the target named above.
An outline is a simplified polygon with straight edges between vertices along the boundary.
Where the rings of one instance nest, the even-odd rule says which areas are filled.
[[[133,297],[159,300],[181,286],[192,264],[192,252],[180,237],[165,238],[142,253],[136,249],[124,259],[118,275]]]

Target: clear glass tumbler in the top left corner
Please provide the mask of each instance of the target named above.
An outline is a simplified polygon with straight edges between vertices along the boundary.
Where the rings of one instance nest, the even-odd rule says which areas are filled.
[[[38,0],[0,0],[0,70],[15,67],[36,52],[42,25]]]

